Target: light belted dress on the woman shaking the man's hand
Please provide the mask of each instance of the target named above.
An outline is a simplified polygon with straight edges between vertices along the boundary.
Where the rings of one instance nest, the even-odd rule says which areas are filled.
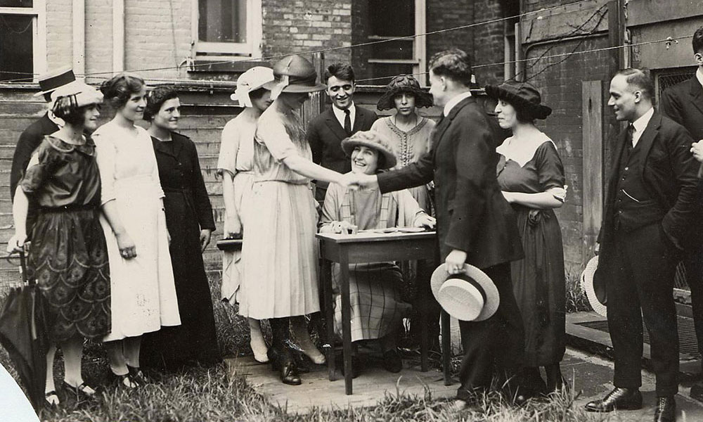
[[[283,162],[294,155],[312,160],[302,123],[271,106],[259,117],[255,141],[239,314],[269,319],[318,312],[316,202],[310,179]]]

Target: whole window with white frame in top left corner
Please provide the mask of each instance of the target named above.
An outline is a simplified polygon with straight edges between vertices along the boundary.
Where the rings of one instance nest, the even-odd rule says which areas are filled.
[[[44,0],[0,0],[0,82],[45,71],[43,11]]]

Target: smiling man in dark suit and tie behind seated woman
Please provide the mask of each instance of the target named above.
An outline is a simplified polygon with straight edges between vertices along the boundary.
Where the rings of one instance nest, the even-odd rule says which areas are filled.
[[[311,120],[307,138],[312,160],[322,167],[347,173],[352,171],[349,158],[342,151],[342,140],[359,131],[371,129],[376,113],[354,105],[354,69],[345,63],[334,63],[325,69],[327,95],[332,107]],[[315,198],[323,202],[328,183],[316,182]]]

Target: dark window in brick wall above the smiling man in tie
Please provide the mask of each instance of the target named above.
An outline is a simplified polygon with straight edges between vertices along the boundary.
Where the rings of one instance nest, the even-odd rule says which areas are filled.
[[[425,0],[369,0],[369,41],[425,33]],[[393,25],[388,25],[392,22]],[[425,84],[425,37],[373,44],[368,58],[370,77],[415,74]],[[385,82],[384,82],[385,83]]]

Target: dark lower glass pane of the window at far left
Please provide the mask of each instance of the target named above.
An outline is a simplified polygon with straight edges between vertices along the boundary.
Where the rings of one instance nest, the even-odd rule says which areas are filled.
[[[0,80],[31,78],[32,16],[0,15]]]

